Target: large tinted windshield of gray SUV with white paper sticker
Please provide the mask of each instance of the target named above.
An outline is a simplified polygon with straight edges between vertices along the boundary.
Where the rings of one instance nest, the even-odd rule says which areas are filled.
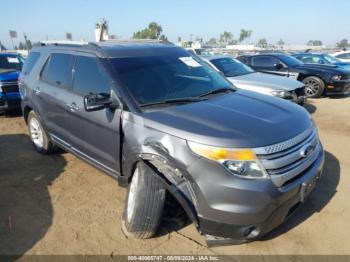
[[[232,88],[218,72],[182,49],[165,55],[112,58],[111,62],[139,105]]]

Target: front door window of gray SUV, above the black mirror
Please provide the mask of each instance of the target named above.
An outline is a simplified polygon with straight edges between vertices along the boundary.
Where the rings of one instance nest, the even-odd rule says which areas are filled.
[[[97,58],[77,56],[73,81],[74,92],[80,95],[111,92],[111,81]]]

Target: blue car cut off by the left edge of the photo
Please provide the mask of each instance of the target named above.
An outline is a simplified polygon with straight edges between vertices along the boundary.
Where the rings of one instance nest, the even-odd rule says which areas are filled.
[[[18,54],[0,53],[0,112],[21,107],[18,76],[23,62]]]

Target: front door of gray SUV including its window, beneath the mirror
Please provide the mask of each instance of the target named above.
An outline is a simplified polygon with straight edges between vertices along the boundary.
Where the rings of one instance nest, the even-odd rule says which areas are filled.
[[[119,170],[121,109],[87,112],[84,96],[115,93],[113,81],[97,57],[76,55],[73,89],[64,98],[66,125],[72,149],[109,173]],[[113,94],[112,94],[113,95]]]

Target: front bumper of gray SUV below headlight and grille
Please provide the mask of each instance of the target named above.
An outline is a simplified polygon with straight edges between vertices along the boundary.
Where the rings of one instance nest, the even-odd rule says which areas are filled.
[[[205,162],[191,167],[195,171],[197,165],[202,166],[202,179],[194,187],[201,233],[214,236],[218,242],[222,239],[246,242],[261,238],[282,224],[313,191],[322,173],[324,152],[296,180],[280,188],[270,180],[223,174],[220,166],[210,167]],[[204,181],[212,180],[213,176],[215,183]]]

